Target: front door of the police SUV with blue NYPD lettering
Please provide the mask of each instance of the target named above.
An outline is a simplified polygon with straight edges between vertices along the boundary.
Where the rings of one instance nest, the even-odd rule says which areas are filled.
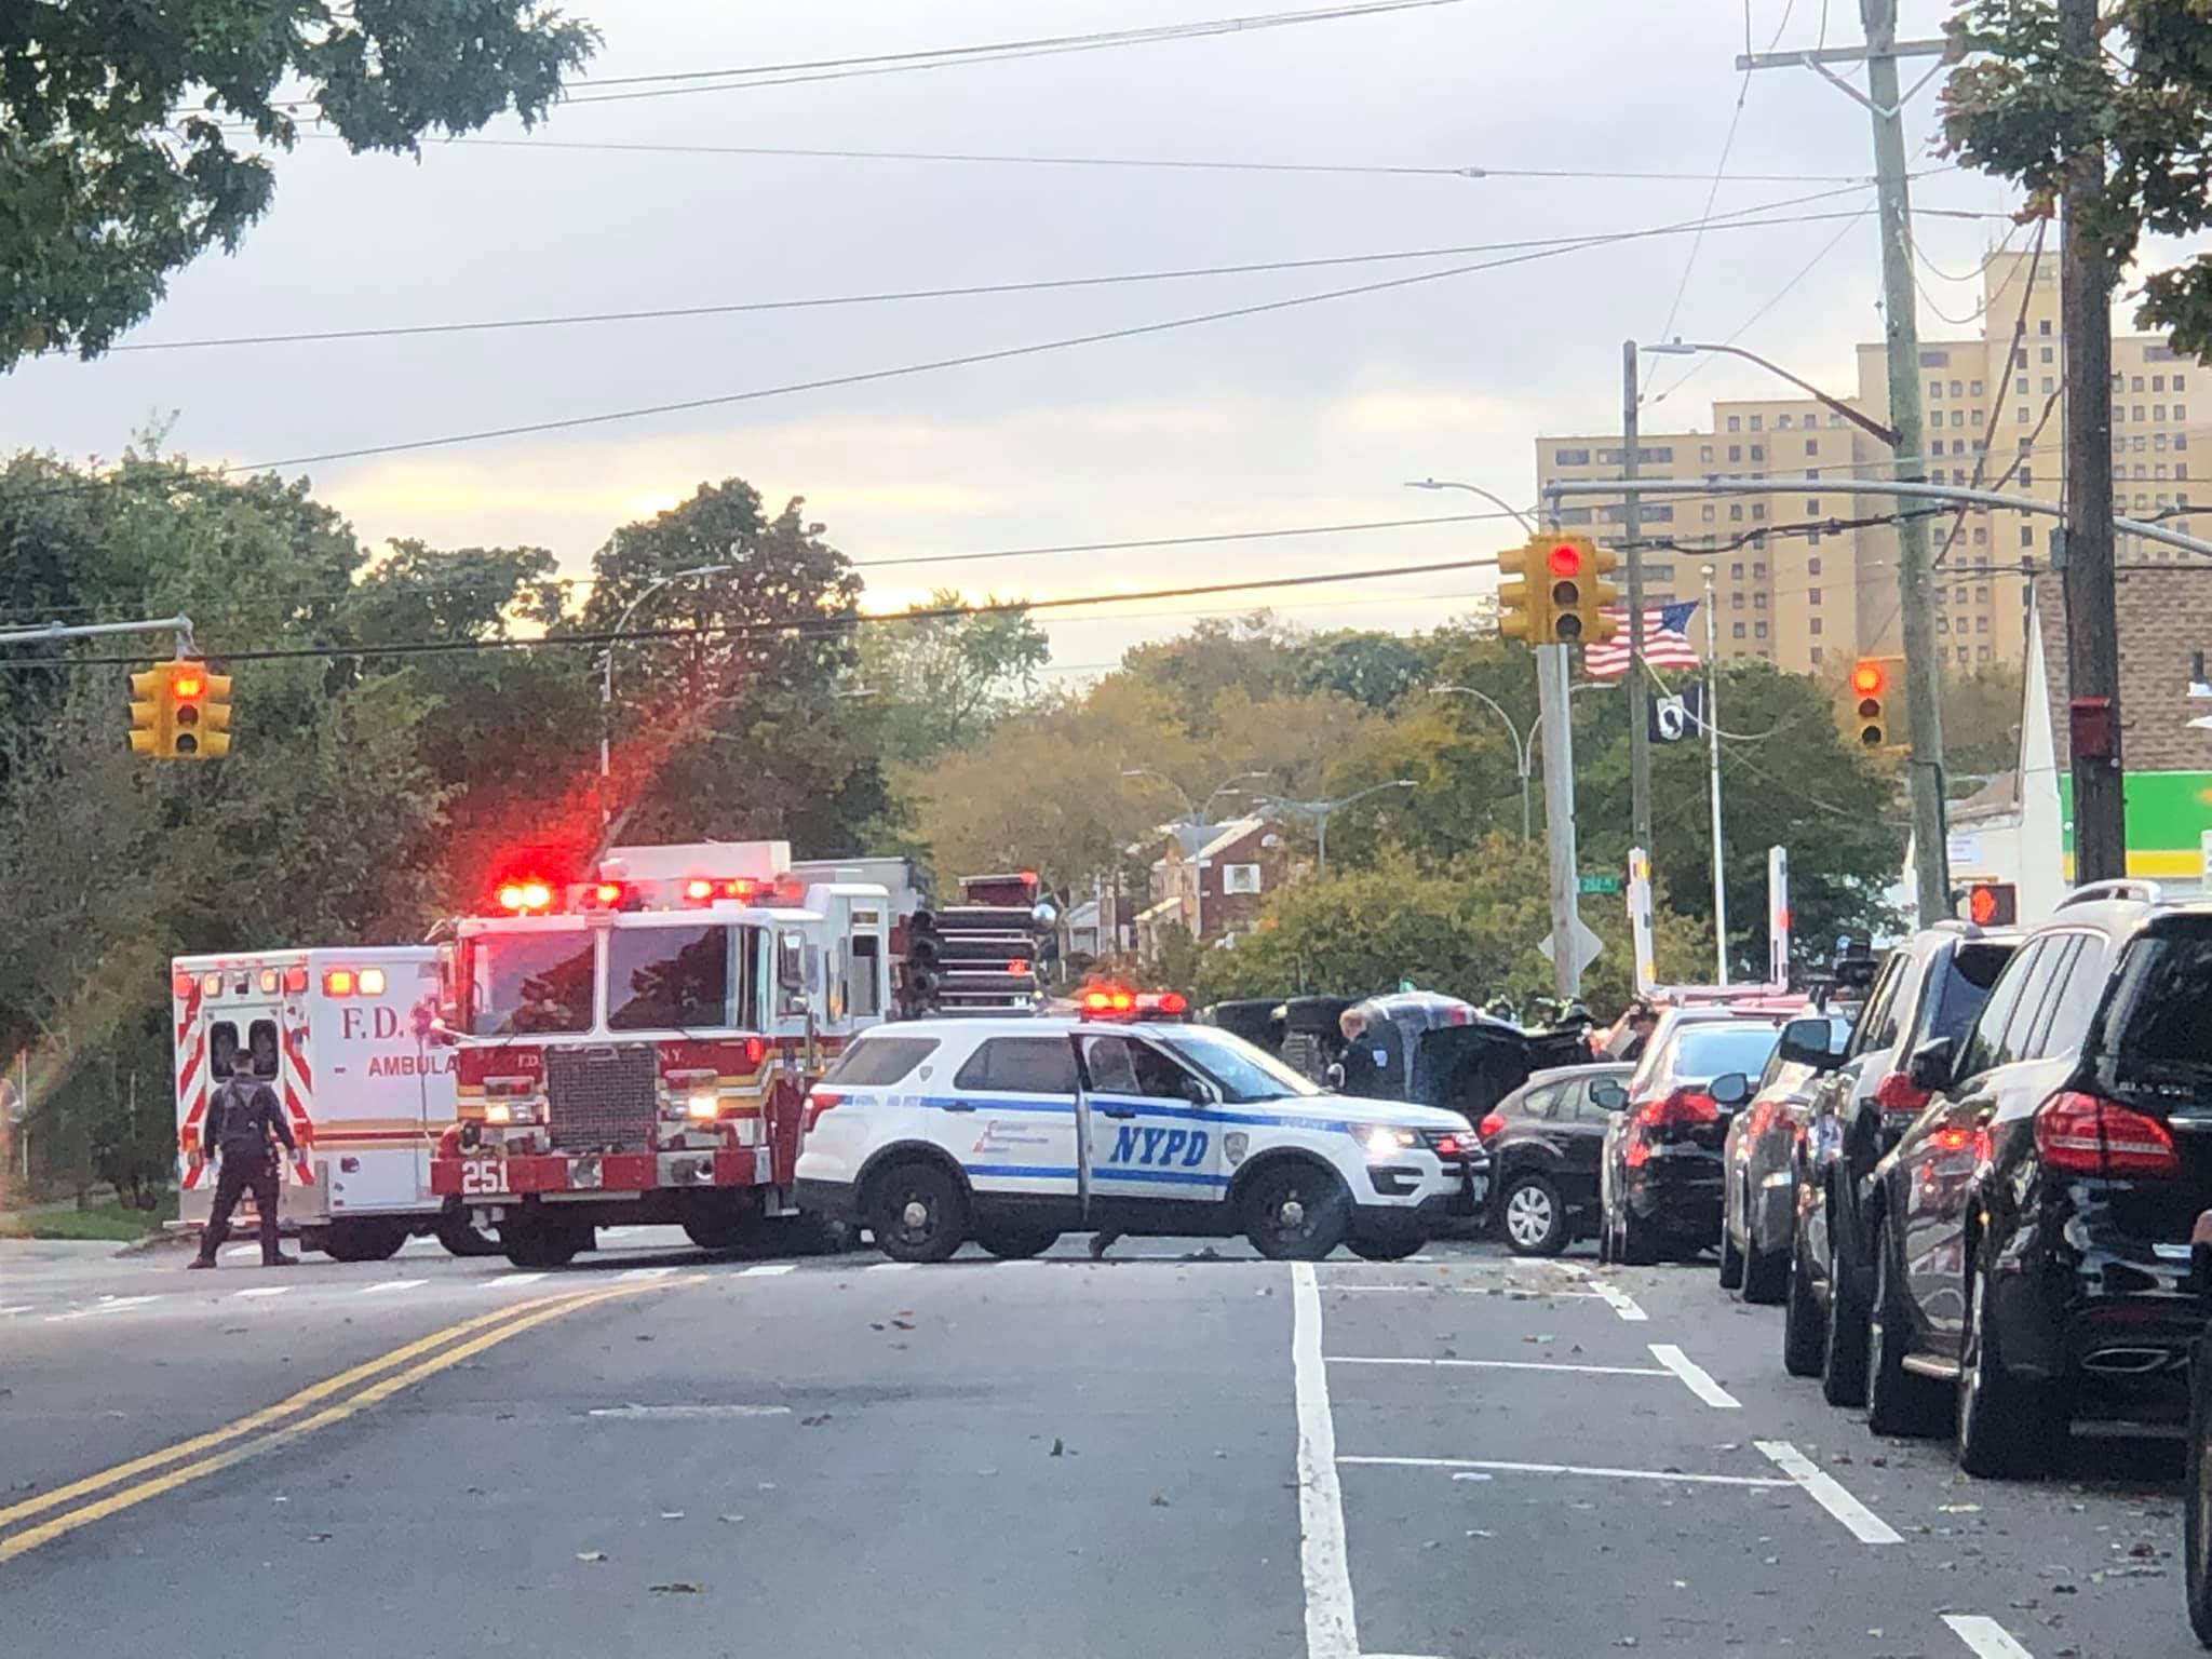
[[[1228,1177],[1212,1091],[1137,1035],[1084,1033],[1077,1046],[1091,1108],[1093,1214],[1115,1201],[1219,1199]]]

